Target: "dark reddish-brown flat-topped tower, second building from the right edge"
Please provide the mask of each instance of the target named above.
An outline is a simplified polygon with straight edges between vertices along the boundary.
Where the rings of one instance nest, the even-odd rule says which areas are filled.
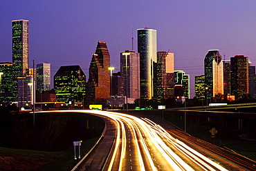
[[[235,55],[230,58],[231,94],[240,99],[249,93],[248,57]]]

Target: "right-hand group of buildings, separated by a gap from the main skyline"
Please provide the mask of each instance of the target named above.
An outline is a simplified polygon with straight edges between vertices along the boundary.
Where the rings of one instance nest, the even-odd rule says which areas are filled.
[[[222,60],[219,50],[209,50],[205,74],[195,77],[195,98],[207,103],[256,97],[255,66],[244,55]]]

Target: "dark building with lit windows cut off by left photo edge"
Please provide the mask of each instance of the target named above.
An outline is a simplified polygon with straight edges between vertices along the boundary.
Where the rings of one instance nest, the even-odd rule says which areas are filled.
[[[0,93],[1,99],[0,101],[13,101],[15,94],[13,94],[13,70],[12,63],[10,62],[2,62],[0,63]]]

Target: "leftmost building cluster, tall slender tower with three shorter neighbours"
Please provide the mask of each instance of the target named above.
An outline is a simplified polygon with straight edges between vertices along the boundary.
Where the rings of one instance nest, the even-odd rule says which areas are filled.
[[[29,22],[12,21],[12,63],[0,63],[0,101],[16,103],[21,108],[35,102],[35,87],[39,92],[49,91],[51,64],[39,63],[29,68]]]

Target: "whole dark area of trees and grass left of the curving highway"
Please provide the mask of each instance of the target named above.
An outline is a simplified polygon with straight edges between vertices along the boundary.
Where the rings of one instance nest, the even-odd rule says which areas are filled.
[[[73,141],[82,141],[81,154],[88,152],[104,121],[89,114],[18,114],[15,106],[0,107],[0,170],[71,170]]]

